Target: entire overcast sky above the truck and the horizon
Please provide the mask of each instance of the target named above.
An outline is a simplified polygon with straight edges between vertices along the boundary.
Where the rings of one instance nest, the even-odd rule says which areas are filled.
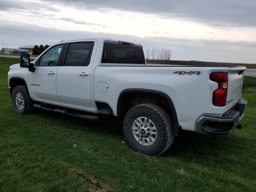
[[[93,37],[168,48],[173,60],[256,63],[256,0],[0,0],[9,48]]]

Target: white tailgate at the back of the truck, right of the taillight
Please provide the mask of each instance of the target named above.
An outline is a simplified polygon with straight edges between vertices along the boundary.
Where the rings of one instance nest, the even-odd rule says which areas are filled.
[[[228,72],[228,94],[226,105],[233,106],[242,96],[244,83],[244,70],[246,67],[230,67]]]

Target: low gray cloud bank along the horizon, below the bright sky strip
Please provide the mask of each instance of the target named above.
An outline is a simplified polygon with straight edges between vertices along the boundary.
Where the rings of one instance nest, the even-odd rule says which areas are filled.
[[[203,40],[166,37],[138,37],[120,34],[62,31],[22,22],[0,20],[0,41],[16,48],[27,44],[49,44],[61,40],[106,37],[141,43],[146,48],[172,49],[173,60],[256,63],[256,42]]]

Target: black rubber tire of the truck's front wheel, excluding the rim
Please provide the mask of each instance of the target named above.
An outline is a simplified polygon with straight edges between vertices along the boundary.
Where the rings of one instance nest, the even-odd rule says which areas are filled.
[[[18,93],[20,93],[21,96],[23,97],[23,100],[24,100],[23,108],[18,108],[18,105],[16,104],[16,95]],[[14,88],[14,90],[12,91],[12,105],[14,106],[14,109],[16,110],[16,112],[21,114],[30,114],[34,112],[33,101],[28,94],[28,90],[26,86],[20,85]]]

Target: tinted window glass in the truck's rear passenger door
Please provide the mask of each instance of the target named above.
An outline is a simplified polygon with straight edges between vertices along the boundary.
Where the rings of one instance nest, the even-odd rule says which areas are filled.
[[[66,60],[66,66],[88,66],[94,42],[71,43]]]

